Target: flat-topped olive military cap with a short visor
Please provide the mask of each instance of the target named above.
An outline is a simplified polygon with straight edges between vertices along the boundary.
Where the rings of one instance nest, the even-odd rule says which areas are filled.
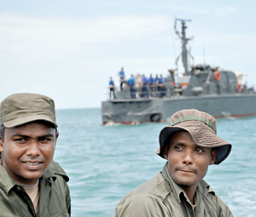
[[[41,94],[12,94],[1,103],[1,126],[15,128],[37,120],[53,123],[55,120],[55,102]]]

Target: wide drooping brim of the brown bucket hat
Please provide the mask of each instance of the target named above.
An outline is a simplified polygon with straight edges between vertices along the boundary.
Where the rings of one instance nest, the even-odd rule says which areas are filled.
[[[229,156],[231,151],[231,144],[221,138],[219,138],[213,130],[209,130],[206,124],[198,122],[195,124],[194,121],[183,124],[179,123],[172,127],[163,128],[160,131],[159,141],[160,141],[160,150],[158,155],[164,157],[164,152],[166,150],[166,140],[168,137],[172,136],[174,133],[185,130],[189,132],[192,140],[194,140],[197,146],[203,146],[207,148],[216,148],[218,150],[218,155],[214,164],[219,164],[224,161],[226,157]],[[179,126],[178,126],[179,125]]]

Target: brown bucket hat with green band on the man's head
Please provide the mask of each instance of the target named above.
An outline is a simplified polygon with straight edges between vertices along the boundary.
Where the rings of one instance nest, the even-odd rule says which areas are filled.
[[[160,157],[165,158],[164,152],[167,139],[170,139],[172,134],[181,130],[189,132],[197,146],[216,148],[218,150],[214,164],[222,163],[229,156],[231,144],[216,135],[215,118],[206,112],[191,109],[177,111],[170,119],[170,126],[160,131],[160,148],[156,151]]]

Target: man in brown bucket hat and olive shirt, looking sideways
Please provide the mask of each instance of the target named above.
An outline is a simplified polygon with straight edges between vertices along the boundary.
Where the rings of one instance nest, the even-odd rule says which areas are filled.
[[[229,156],[231,145],[216,135],[216,120],[195,109],[177,111],[160,131],[157,154],[163,170],[118,204],[116,217],[231,217],[230,208],[203,180],[209,165]]]

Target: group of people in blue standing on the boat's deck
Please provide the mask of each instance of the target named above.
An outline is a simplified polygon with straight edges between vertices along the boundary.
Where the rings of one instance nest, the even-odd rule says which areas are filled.
[[[135,77],[131,74],[131,77],[128,80],[125,80],[125,72],[124,72],[124,68],[122,67],[121,70],[119,71],[119,78],[120,78],[120,90],[121,91],[124,90],[123,85],[125,83],[129,86],[131,98],[132,99],[137,98],[136,96],[137,89],[135,88],[135,83],[136,83]],[[142,83],[139,87],[140,89],[138,91],[138,95],[141,98],[148,98],[149,94],[157,97],[163,97],[166,94],[165,87],[164,87],[165,83],[166,83],[166,78],[163,77],[162,74],[160,74],[160,77],[158,77],[158,75],[156,75],[155,77],[152,77],[152,74],[150,74],[150,77],[146,77],[143,74]],[[109,89],[110,89],[110,93],[109,93],[110,99],[111,99],[112,93],[113,93],[113,99],[115,99],[116,96],[114,94],[114,83],[113,83],[112,77],[110,77]],[[157,94],[152,94],[153,92]]]

